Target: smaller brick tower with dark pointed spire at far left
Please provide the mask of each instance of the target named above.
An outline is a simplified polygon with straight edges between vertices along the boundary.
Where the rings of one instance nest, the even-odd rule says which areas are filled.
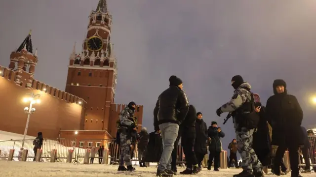
[[[22,87],[31,88],[37,62],[37,49],[33,54],[30,31],[19,48],[10,55],[9,69],[15,72],[14,82]]]

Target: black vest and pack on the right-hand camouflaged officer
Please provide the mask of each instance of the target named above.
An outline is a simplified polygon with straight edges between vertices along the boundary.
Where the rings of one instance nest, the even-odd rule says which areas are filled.
[[[247,129],[254,129],[257,128],[260,120],[259,114],[255,111],[255,99],[253,93],[248,90],[251,95],[250,102],[246,102],[241,106],[241,112],[237,113],[236,120],[238,123],[239,128],[246,127]],[[250,107],[250,110],[248,109]],[[249,113],[243,113],[244,110],[248,110]]]

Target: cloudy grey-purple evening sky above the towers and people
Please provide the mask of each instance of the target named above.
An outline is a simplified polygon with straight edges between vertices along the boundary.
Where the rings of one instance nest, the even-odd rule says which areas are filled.
[[[39,62],[35,79],[65,89],[73,45],[81,52],[88,15],[98,0],[1,0],[0,64],[30,29]],[[158,95],[170,75],[184,82],[191,104],[207,125],[219,123],[235,138],[230,120],[216,109],[233,95],[241,75],[265,105],[275,79],[284,79],[304,111],[303,125],[316,124],[316,1],[314,0],[108,0],[111,40],[118,59],[115,102],[144,105],[143,125],[153,130]]]

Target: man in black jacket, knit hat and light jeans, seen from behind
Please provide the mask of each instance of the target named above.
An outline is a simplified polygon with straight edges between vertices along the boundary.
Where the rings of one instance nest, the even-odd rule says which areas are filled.
[[[171,152],[178,136],[179,124],[189,111],[189,101],[180,78],[170,76],[170,87],[158,97],[154,109],[154,126],[159,127],[163,141],[163,152],[159,161],[157,176],[173,176]]]

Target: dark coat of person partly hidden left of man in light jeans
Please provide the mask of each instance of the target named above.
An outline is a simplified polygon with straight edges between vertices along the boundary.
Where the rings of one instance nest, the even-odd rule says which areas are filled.
[[[156,128],[155,128],[156,129]],[[162,137],[160,130],[151,132],[149,134],[149,142],[147,145],[144,162],[159,162],[163,151]]]

